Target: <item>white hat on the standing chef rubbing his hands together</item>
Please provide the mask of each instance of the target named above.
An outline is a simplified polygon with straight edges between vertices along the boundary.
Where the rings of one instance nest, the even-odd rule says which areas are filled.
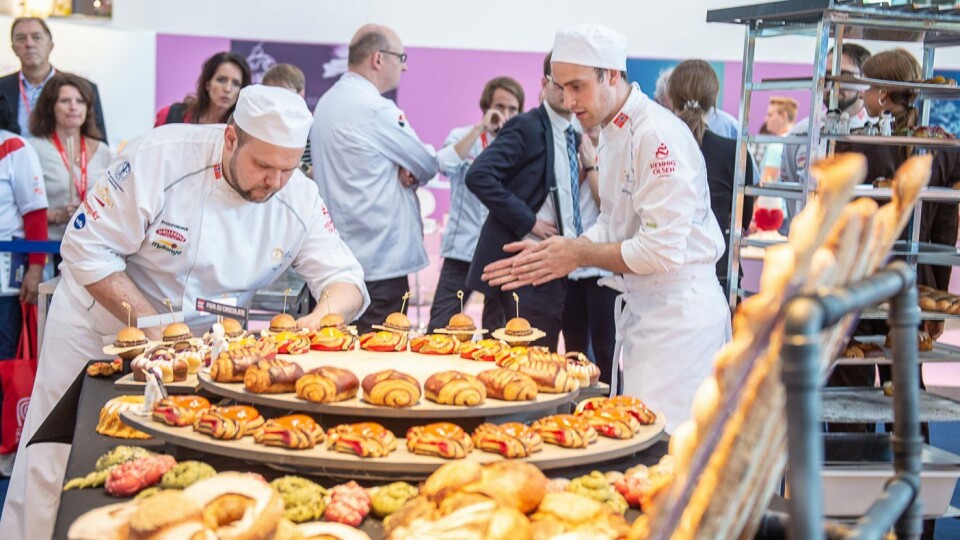
[[[627,70],[627,38],[599,24],[580,24],[557,32],[553,62]]]

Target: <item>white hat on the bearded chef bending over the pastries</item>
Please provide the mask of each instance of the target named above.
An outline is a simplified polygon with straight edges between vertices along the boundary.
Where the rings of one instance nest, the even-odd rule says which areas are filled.
[[[265,143],[303,148],[313,125],[313,115],[298,94],[286,88],[254,84],[240,90],[233,121],[251,137]]]

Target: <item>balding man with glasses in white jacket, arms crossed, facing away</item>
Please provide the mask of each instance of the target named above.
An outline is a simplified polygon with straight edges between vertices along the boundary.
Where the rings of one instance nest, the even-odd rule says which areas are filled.
[[[438,155],[382,95],[400,84],[406,62],[393,30],[361,27],[350,40],[347,72],[314,111],[314,180],[370,292],[361,332],[400,310],[408,275],[429,262],[416,189],[436,176]]]

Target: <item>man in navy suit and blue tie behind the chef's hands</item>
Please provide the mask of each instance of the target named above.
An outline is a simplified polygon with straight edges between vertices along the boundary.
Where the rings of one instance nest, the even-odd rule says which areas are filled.
[[[544,61],[541,86],[540,107],[507,122],[493,143],[473,162],[466,177],[467,188],[490,210],[480,230],[467,286],[499,297],[508,319],[516,313],[514,291],[490,287],[480,279],[483,268],[510,255],[503,251],[506,244],[524,238],[543,240],[562,235],[564,226],[574,226],[572,220],[563,217],[565,214],[569,217],[565,209],[573,208],[569,185],[570,176],[579,174],[575,156],[580,138],[570,129],[571,114],[563,107],[563,92],[550,77],[550,55]],[[572,160],[568,135],[573,138],[570,141]],[[566,280],[530,285],[515,292],[520,297],[520,316],[546,333],[534,344],[555,350],[563,324]]]

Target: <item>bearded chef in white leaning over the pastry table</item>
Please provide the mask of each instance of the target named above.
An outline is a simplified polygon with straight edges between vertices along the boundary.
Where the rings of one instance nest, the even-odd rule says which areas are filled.
[[[227,126],[177,124],[124,149],[89,191],[63,239],[63,278],[44,343],[0,530],[50,538],[69,446],[27,447],[103,336],[164,312],[169,298],[195,333],[212,316],[198,298],[247,306],[290,266],[329,302],[300,319],[316,327],[327,310],[353,319],[368,303],[363,271],[340,239],[316,184],[297,166],[313,122],[303,98],[282,88],[240,92]],[[159,329],[146,329],[157,337]]]

